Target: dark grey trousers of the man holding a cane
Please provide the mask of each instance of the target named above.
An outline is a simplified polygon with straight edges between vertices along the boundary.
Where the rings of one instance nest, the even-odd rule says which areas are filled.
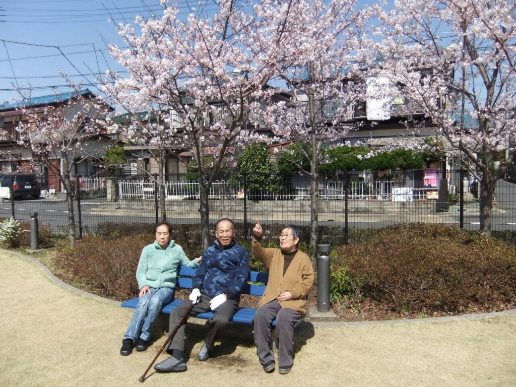
[[[209,301],[212,299],[206,295],[202,295],[201,301],[199,301],[196,305],[194,305],[191,310],[189,316],[197,316],[199,313],[208,312],[209,309]],[[179,307],[175,308],[170,314],[170,322],[169,322],[169,332],[175,328],[178,324],[181,317],[186,313],[188,308],[191,305],[190,300],[186,300]],[[208,335],[206,336],[206,347],[208,349],[212,349],[215,340],[219,336],[219,333],[224,330],[224,328],[229,324],[229,322],[233,319],[236,311],[238,309],[238,301],[227,299],[220,306],[213,311],[213,318],[209,319],[208,322]],[[172,341],[168,345],[167,350],[170,352],[173,349],[179,349],[180,351],[184,351],[185,349],[185,328],[186,328],[186,318],[183,321],[183,324],[178,329],[178,332],[172,338]]]

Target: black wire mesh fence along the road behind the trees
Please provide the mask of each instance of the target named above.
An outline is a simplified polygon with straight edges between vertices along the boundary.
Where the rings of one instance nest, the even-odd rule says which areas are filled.
[[[165,183],[167,221],[199,224],[199,186],[185,176]],[[160,220],[159,190],[143,176],[76,178],[73,195],[77,235],[95,233],[103,223],[154,224]],[[310,223],[310,179],[307,175],[225,176],[209,192],[209,218],[229,217],[249,237],[255,219],[261,223]],[[395,223],[434,222],[470,230],[479,228],[478,186],[464,171],[423,169],[361,171],[321,175],[318,180],[321,243],[353,243],[371,229]],[[42,199],[6,201],[0,217],[27,221],[37,212],[40,225],[67,233],[66,192],[42,192]],[[492,208],[493,230],[514,230],[516,186],[499,181]]]

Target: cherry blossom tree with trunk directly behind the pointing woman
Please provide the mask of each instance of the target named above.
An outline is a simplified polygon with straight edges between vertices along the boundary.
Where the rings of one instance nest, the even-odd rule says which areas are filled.
[[[310,160],[308,170],[294,154],[291,162],[310,176],[310,246],[315,254],[319,164],[327,146],[354,128],[353,109],[364,92],[359,58],[368,12],[357,11],[354,0],[302,1],[297,6],[295,39],[286,47],[296,55],[286,53],[278,69],[292,98],[271,102],[265,117],[276,135],[304,144],[297,149]]]

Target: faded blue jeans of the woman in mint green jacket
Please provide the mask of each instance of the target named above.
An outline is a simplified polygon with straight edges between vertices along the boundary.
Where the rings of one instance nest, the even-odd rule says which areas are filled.
[[[141,337],[148,341],[152,335],[154,322],[156,322],[163,305],[174,298],[174,289],[170,287],[160,289],[151,287],[151,293],[144,294],[138,300],[138,305],[136,305],[124,338],[132,338],[136,341],[138,337]]]

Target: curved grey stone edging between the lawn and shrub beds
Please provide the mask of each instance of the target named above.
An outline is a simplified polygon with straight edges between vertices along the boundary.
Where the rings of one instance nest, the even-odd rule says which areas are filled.
[[[22,253],[19,253],[17,251],[11,251],[11,250],[5,250],[0,249],[0,252],[12,254],[15,255],[25,261],[31,262],[36,264],[47,277],[49,277],[56,285],[65,287],[69,289],[70,291],[80,294],[85,297],[93,298],[97,301],[105,302],[111,305],[116,305],[117,307],[120,307],[120,302],[115,300],[110,300],[109,298],[100,297],[88,292],[85,292],[81,289],[78,289],[76,287],[73,287],[66,282],[61,281],[59,278],[54,276],[52,272],[41,262],[38,260],[35,260],[34,258],[31,258],[29,256],[26,256]],[[502,311],[502,312],[491,312],[491,313],[478,313],[478,314],[463,314],[460,316],[446,316],[446,317],[427,317],[427,318],[408,318],[404,320],[372,320],[372,321],[302,321],[300,322],[299,326],[304,325],[312,325],[314,327],[357,327],[357,326],[374,326],[374,325],[402,325],[402,324],[414,324],[414,323],[420,323],[420,322],[447,322],[447,321],[455,321],[455,320],[479,320],[483,318],[491,318],[491,317],[497,317],[497,316],[516,316],[516,309],[511,309],[508,311]]]

